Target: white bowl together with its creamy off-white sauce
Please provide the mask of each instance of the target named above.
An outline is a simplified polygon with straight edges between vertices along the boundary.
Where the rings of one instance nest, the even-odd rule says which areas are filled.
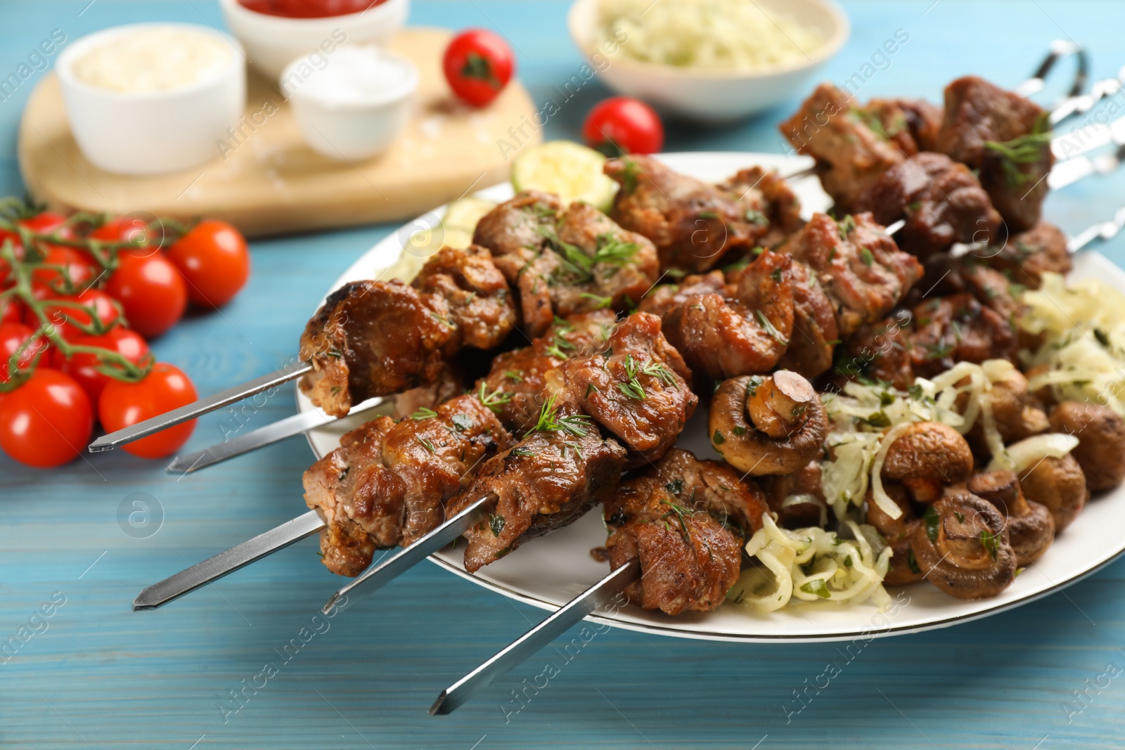
[[[71,132],[96,166],[160,174],[218,155],[243,112],[233,38],[191,24],[133,24],[82,37],[56,66]]]

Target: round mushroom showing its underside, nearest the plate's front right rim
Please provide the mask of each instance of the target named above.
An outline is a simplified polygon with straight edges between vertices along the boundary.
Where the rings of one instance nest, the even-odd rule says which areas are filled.
[[[1016,575],[1004,516],[969,493],[929,506],[910,542],[926,579],[958,599],[996,596]]]

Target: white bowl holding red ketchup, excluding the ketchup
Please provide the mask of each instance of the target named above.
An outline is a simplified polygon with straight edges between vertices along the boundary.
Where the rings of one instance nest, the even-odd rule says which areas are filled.
[[[385,0],[358,13],[286,18],[219,0],[223,18],[246,48],[250,64],[277,81],[291,61],[316,52],[331,55],[342,44],[381,44],[406,22],[410,0]]]

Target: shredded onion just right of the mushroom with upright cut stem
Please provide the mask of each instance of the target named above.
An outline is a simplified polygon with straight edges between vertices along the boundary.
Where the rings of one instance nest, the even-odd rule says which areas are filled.
[[[836,517],[843,521],[848,506],[863,505],[868,487],[883,513],[891,518],[902,515],[883,489],[880,471],[886,451],[908,424],[940,422],[965,434],[980,418],[992,461],[1010,467],[992,415],[991,391],[992,383],[1012,370],[1006,360],[960,362],[933,380],[916,378],[907,391],[885,383],[849,382],[843,394],[826,394],[822,400],[832,428],[825,440],[820,485]]]

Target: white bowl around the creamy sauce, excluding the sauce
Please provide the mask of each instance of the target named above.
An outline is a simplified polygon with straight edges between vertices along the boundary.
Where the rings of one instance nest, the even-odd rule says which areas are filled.
[[[227,63],[206,78],[166,91],[125,92],[80,81],[76,60],[90,49],[146,28],[183,27],[228,45]],[[55,66],[66,117],[79,148],[94,166],[122,174],[161,174],[218,155],[246,100],[246,64],[233,38],[194,24],[130,24],[84,36],[58,55]]]

